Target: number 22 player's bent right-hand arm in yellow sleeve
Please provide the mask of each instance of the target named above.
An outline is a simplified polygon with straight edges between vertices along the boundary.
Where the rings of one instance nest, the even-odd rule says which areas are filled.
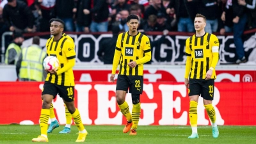
[[[148,36],[143,36],[141,43],[143,45],[143,51],[145,56],[143,56],[143,58],[136,60],[137,65],[143,64],[143,63],[147,63],[148,61],[151,60],[151,47],[150,47],[150,41]]]

